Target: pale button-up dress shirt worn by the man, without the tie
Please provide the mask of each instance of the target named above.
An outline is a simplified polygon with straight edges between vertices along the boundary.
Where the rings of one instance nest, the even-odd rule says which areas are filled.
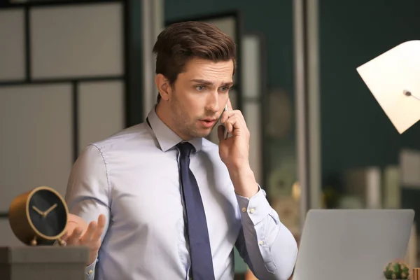
[[[148,123],[150,125],[148,125]],[[181,142],[153,109],[148,123],[87,146],[70,174],[69,211],[90,223],[105,214],[97,262],[86,279],[188,280],[190,259],[179,177]],[[269,206],[265,191],[235,194],[218,146],[190,141],[209,228],[216,279],[233,279],[234,246],[258,279],[286,280],[297,244]]]

